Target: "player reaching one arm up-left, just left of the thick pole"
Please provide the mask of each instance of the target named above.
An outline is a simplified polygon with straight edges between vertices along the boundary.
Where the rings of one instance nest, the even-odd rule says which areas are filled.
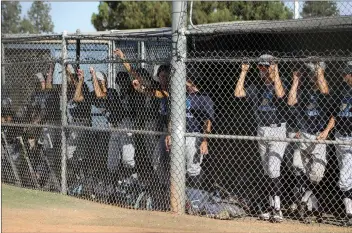
[[[115,55],[125,61],[123,52],[119,49],[115,50]],[[139,109],[144,109],[143,115],[144,129],[149,131],[167,131],[168,118],[168,76],[170,73],[170,66],[164,64],[158,67],[157,77],[159,82],[152,80],[151,76],[144,69],[132,69],[128,62],[123,63],[126,70],[131,74],[134,90],[144,96],[144,104],[139,106]],[[141,99],[141,96],[134,94],[134,99]],[[139,110],[141,111],[141,110]],[[146,152],[151,160],[152,166],[160,183],[167,184],[168,179],[165,176],[167,173],[167,156],[165,154],[165,136],[144,135],[144,145]]]

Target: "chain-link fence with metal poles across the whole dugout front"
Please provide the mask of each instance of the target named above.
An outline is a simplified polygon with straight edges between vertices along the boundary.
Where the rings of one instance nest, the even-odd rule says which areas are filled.
[[[352,5],[337,5],[340,16],[187,28],[178,2],[171,30],[3,36],[2,182],[351,223]]]

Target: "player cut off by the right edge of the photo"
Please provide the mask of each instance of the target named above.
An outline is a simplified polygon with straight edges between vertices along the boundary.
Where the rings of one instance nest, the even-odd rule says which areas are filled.
[[[347,225],[352,226],[352,61],[345,65],[341,73],[344,85],[338,89],[339,93],[333,98],[336,105],[333,120],[335,120],[336,141],[350,143],[350,145],[336,145],[336,154]]]

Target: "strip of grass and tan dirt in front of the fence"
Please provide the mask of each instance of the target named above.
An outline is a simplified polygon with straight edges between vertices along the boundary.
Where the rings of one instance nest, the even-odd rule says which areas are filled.
[[[130,210],[2,184],[3,232],[352,232],[331,225],[214,220]]]

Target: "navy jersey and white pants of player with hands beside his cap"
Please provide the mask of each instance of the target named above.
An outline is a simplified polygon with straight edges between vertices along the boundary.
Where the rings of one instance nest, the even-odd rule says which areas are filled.
[[[245,98],[256,116],[257,136],[286,138],[286,96],[277,97],[273,83],[265,84],[263,79],[260,79],[256,84],[250,84],[246,88]],[[260,140],[258,146],[264,174],[270,178],[270,207],[259,217],[269,220],[273,213],[274,220],[280,221],[282,213],[279,177],[287,142]]]

